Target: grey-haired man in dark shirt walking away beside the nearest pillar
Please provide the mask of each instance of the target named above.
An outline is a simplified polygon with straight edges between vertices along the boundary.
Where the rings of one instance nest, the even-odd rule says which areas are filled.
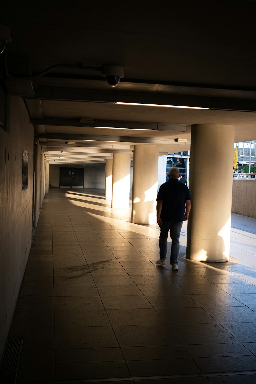
[[[178,168],[169,170],[170,180],[160,186],[157,195],[157,223],[160,227],[160,259],[157,264],[166,264],[167,238],[170,229],[172,239],[171,265],[178,270],[178,253],[180,250],[180,232],[183,221],[188,220],[192,199],[187,185],[178,182]],[[186,206],[186,211],[185,211]]]

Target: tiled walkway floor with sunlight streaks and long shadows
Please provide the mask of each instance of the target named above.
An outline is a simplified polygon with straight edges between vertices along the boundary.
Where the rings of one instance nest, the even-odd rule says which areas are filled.
[[[155,264],[159,228],[129,221],[102,190],[45,196],[9,334],[18,381],[256,382],[256,220],[233,215],[219,264],[184,258],[184,223],[178,272]]]

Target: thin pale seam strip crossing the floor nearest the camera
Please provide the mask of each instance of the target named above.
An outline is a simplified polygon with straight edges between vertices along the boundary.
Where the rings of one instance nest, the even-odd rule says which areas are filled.
[[[79,383],[106,383],[114,381],[132,381],[132,380],[156,380],[156,379],[178,379],[178,378],[197,378],[197,377],[214,377],[214,376],[233,376],[233,375],[256,375],[256,371],[236,371],[236,372],[211,372],[205,374],[183,374],[183,375],[169,375],[169,376],[134,376],[134,377],[112,377],[102,379],[75,379],[75,380],[58,380],[58,381],[33,381],[33,384],[79,384]]]

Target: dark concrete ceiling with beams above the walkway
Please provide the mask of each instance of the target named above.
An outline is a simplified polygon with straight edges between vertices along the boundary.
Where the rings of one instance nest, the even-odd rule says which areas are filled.
[[[57,0],[27,2],[26,7],[10,1],[1,8],[0,23],[12,29],[12,43],[7,45],[6,53],[13,76],[30,74],[27,58],[33,74],[59,63],[113,63],[125,69],[124,78],[114,89],[109,88],[101,73],[91,70],[58,68],[32,81],[11,81],[3,76],[10,92],[24,98],[32,121],[41,119],[35,128],[47,156],[53,150],[64,151],[69,152],[66,157],[70,162],[91,162],[94,155],[99,159],[98,154],[105,153],[100,156],[102,160],[95,160],[101,162],[114,151],[132,154],[134,144],[143,142],[159,144],[161,153],[186,151],[190,149],[190,126],[203,123],[234,125],[236,142],[255,139],[254,1]],[[119,96],[146,99],[147,95],[155,101],[170,98],[176,101],[174,105],[186,100],[197,105],[210,103],[210,109],[128,106],[113,101]],[[83,117],[183,124],[185,129],[143,131],[68,122],[45,124],[45,118]],[[94,139],[85,142],[81,135]],[[111,137],[121,139],[111,141]],[[177,138],[187,142],[181,144],[174,140]],[[70,147],[66,142],[75,144]],[[92,148],[105,152],[90,152],[92,155],[82,159],[74,148],[79,148],[79,154]],[[62,161],[68,162],[66,157]]]

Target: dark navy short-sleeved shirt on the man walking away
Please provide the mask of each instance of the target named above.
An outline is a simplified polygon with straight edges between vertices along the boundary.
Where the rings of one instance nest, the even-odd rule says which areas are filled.
[[[185,200],[191,200],[192,196],[187,185],[178,179],[170,179],[160,185],[157,201],[163,201],[160,218],[163,221],[183,221],[185,218]]]

